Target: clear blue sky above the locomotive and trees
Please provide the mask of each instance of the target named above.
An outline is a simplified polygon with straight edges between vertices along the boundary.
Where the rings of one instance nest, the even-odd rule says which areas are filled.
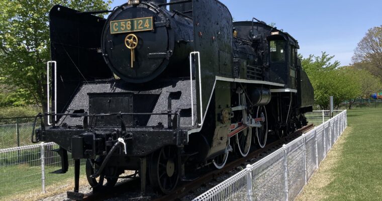
[[[127,0],[114,0],[112,8]],[[381,0],[221,0],[235,21],[255,17],[291,34],[307,57],[325,51],[341,65],[351,63],[368,29],[382,25]]]

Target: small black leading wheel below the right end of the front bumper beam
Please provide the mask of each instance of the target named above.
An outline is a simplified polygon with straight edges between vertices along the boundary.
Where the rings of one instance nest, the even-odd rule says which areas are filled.
[[[150,164],[150,183],[165,194],[169,194],[179,179],[177,148],[166,146],[153,153]]]

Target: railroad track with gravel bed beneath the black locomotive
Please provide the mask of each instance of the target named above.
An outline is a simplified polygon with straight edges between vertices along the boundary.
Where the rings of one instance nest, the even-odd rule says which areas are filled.
[[[216,169],[213,171],[209,171],[206,174],[200,176],[194,181],[184,182],[179,185],[172,193],[161,196],[161,197],[151,197],[151,196],[142,196],[139,193],[140,189],[140,179],[131,179],[126,182],[122,182],[117,184],[113,189],[108,190],[107,192],[100,192],[95,194],[87,194],[83,197],[85,201],[96,201],[96,200],[104,200],[116,196],[121,196],[122,193],[134,193],[136,197],[134,198],[126,198],[125,200],[153,200],[153,201],[162,201],[162,200],[176,200],[184,197],[188,193],[195,191],[203,184],[206,184],[219,176],[234,170],[236,167],[241,166],[243,164],[248,164],[253,162],[254,159],[258,158],[261,154],[265,152],[281,147],[283,144],[296,139],[302,133],[306,133],[309,130],[313,129],[313,124],[307,125],[296,132],[283,137],[279,140],[276,140],[268,145],[266,145],[262,149],[257,149],[251,153],[249,153],[246,157],[238,158],[234,161],[227,163],[222,169]]]

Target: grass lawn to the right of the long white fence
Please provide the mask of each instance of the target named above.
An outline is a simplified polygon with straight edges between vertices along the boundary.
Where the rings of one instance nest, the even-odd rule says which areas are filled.
[[[296,200],[382,200],[382,108],[354,109]]]

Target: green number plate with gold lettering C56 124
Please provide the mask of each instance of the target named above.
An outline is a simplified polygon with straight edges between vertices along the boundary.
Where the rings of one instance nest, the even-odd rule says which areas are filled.
[[[153,17],[136,18],[130,20],[117,20],[110,22],[111,34],[151,31],[153,29]]]

